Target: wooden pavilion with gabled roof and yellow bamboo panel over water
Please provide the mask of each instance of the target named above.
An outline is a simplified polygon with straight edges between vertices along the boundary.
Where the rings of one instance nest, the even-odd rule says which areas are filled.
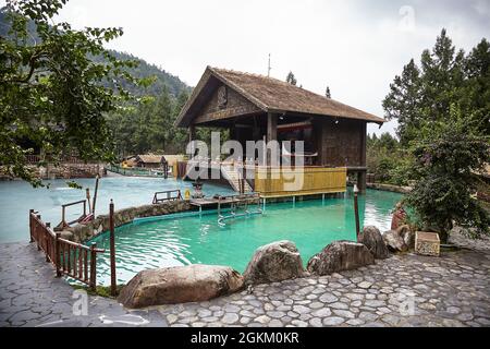
[[[384,120],[305,88],[262,75],[207,67],[183,107],[176,125],[222,128],[231,139],[246,141],[304,141],[305,184],[297,193],[281,189],[281,180],[256,180],[265,196],[345,191],[347,173],[366,188],[366,125]],[[274,168],[257,168],[273,172]],[[258,176],[257,176],[258,177]]]

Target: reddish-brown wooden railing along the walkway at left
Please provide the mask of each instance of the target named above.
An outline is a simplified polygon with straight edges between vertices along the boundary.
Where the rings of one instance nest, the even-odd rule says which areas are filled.
[[[46,262],[50,262],[57,276],[66,275],[91,289],[97,285],[97,253],[106,250],[97,249],[94,242],[90,246],[61,238],[54,232],[49,222],[44,222],[40,215],[34,209],[29,210],[30,242],[37,243],[37,249],[46,254]]]

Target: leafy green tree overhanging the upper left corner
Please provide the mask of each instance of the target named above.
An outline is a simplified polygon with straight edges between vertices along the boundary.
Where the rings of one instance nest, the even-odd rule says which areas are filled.
[[[72,29],[52,19],[66,0],[7,2],[9,35],[0,37],[0,165],[12,176],[40,184],[26,155],[42,149],[52,161],[66,152],[83,160],[113,160],[103,115],[131,99],[122,81],[140,83],[125,69],[133,61],[112,57],[103,44],[121,28]],[[36,40],[28,35],[33,23]],[[89,57],[103,56],[106,63]],[[111,88],[102,86],[111,82]]]

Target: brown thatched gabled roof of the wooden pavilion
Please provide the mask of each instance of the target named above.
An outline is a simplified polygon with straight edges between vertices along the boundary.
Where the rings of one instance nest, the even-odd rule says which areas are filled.
[[[265,112],[297,112],[339,117],[383,123],[384,119],[344,105],[334,99],[291,85],[278,79],[207,67],[191,98],[175,121],[179,127],[188,127],[196,117],[194,106],[203,99],[203,93],[211,77],[236,91]]]

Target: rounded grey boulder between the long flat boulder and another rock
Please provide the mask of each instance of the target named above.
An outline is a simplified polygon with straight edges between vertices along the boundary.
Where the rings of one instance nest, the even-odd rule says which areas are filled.
[[[296,245],[291,241],[278,241],[258,248],[243,276],[245,285],[257,285],[293,279],[304,274]]]

